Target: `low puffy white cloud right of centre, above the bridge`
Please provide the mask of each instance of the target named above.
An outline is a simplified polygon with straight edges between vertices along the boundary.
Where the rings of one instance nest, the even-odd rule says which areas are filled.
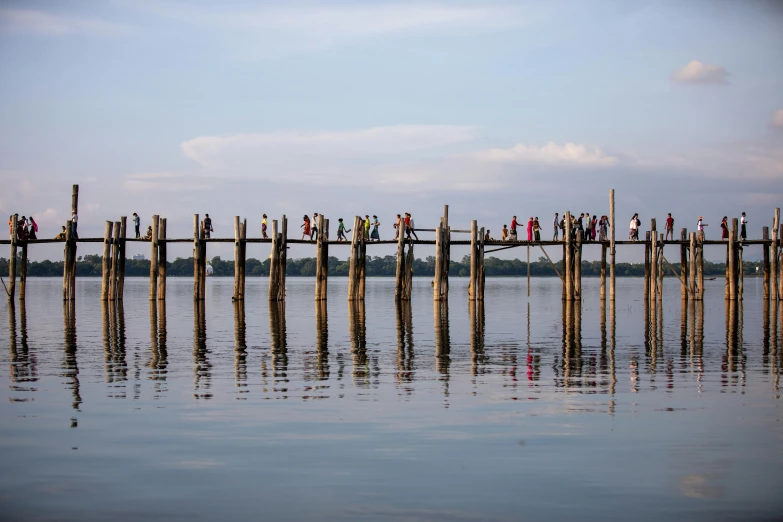
[[[598,147],[576,143],[557,145],[551,141],[541,147],[518,143],[509,149],[488,149],[475,153],[474,157],[484,161],[499,163],[536,163],[593,167],[611,167],[619,161],[617,157],[606,154]]]

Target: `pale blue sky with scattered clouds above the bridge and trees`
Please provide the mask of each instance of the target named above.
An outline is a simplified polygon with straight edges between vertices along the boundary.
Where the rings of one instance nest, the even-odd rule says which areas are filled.
[[[745,211],[760,237],[783,206],[777,1],[0,0],[0,77],[0,210],[41,237],[72,184],[82,237],[133,212],[170,237],[195,213],[222,237],[286,214],[298,237],[318,212],[391,238],[444,204],[455,228],[538,216],[547,237],[554,212],[608,214],[610,188],[618,239],[635,212],[717,238]]]

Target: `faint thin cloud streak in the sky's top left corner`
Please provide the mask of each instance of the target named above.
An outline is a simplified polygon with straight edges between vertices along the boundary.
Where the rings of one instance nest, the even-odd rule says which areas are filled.
[[[3,30],[63,36],[83,33],[113,35],[125,32],[125,25],[101,20],[27,9],[0,9]]]

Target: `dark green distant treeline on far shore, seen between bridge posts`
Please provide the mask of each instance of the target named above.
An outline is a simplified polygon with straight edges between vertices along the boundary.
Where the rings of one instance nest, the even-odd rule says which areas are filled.
[[[76,275],[81,277],[100,277],[101,259],[99,255],[79,256],[76,263]],[[233,276],[234,261],[223,260],[219,256],[213,257],[210,261],[213,269],[213,276]],[[21,259],[17,262],[17,273]],[[562,262],[556,263],[557,269],[562,274]],[[193,258],[177,258],[168,262],[167,274],[172,277],[193,277]],[[340,260],[336,257],[329,258],[329,275],[347,276],[348,260]],[[396,256],[367,256],[367,276],[368,277],[394,277],[397,266]],[[248,276],[268,276],[269,260],[259,261],[250,258],[245,265]],[[450,275],[455,277],[468,277],[470,275],[470,257],[465,256],[461,261],[451,261]],[[500,276],[526,276],[527,263],[519,259],[498,259],[496,257],[487,257],[484,260],[484,267],[488,277]],[[745,274],[755,274],[756,267],[761,270],[761,263],[744,262]],[[618,277],[640,277],[644,276],[643,263],[617,263],[615,265]],[[679,270],[679,266],[677,268]],[[671,270],[665,267],[666,276],[672,277]],[[608,271],[608,267],[607,267]],[[416,276],[432,276],[435,273],[435,257],[428,256],[425,259],[416,259],[413,263],[413,274]],[[726,265],[722,263],[704,262],[704,274],[707,276],[725,275]],[[8,259],[0,257],[0,274],[8,274]],[[30,277],[56,277],[63,274],[62,261],[30,261],[27,265],[27,275]],[[128,277],[144,277],[150,274],[149,260],[131,260],[125,263],[125,275]],[[552,269],[552,265],[545,257],[539,257],[538,261],[530,263],[530,274],[532,276],[557,277]],[[305,257],[301,259],[289,259],[286,265],[286,275],[289,276],[315,276],[315,258]],[[600,261],[582,261],[583,276],[600,276]],[[608,274],[607,274],[608,276]]]

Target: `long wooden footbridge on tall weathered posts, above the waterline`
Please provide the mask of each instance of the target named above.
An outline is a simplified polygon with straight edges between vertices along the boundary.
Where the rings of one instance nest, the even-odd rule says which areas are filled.
[[[78,209],[79,186],[73,186],[71,206],[74,213]],[[18,216],[11,216],[12,222],[17,222]],[[731,231],[727,241],[708,241],[702,235],[694,232],[688,234],[686,229],[680,229],[679,240],[665,241],[664,234],[659,234],[655,219],[651,220],[650,231],[644,241],[615,240],[614,190],[609,191],[609,238],[606,241],[592,241],[584,235],[581,225],[566,213],[564,219],[564,241],[492,241],[487,240],[484,228],[479,228],[475,220],[471,221],[470,229],[458,230],[449,226],[449,208],[444,207],[443,217],[436,228],[409,229],[401,222],[404,230],[398,230],[398,238],[394,241],[372,241],[367,236],[368,227],[361,217],[356,216],[353,224],[351,241],[329,240],[329,220],[323,215],[318,216],[316,223],[318,232],[312,240],[293,239],[288,237],[288,220],[285,215],[280,222],[272,220],[271,237],[248,238],[247,219],[240,221],[234,216],[233,238],[207,237],[204,222],[199,215],[193,216],[193,238],[169,238],[166,235],[166,219],[152,216],[152,234],[150,243],[150,299],[166,299],[166,250],[168,244],[193,243],[193,299],[204,300],[206,285],[204,279],[210,272],[207,262],[207,244],[234,243],[234,301],[242,301],[245,297],[245,260],[248,244],[269,243],[271,245],[270,274],[268,297],[270,301],[285,300],[285,271],[289,244],[313,244],[316,247],[316,301],[327,298],[327,272],[330,246],[350,246],[350,270],[348,274],[348,300],[363,301],[366,274],[366,252],[370,245],[397,245],[397,268],[395,274],[395,300],[408,301],[411,293],[411,278],[413,276],[413,248],[415,245],[435,246],[435,276],[433,279],[433,298],[435,301],[446,301],[449,294],[449,262],[451,246],[469,246],[470,248],[470,283],[468,299],[482,301],[484,299],[484,254],[510,248],[527,248],[528,292],[530,288],[530,247],[538,247],[549,260],[554,271],[562,281],[564,300],[579,300],[582,296],[582,251],[585,246],[595,245],[601,249],[601,299],[607,298],[607,257],[608,257],[608,298],[614,300],[615,294],[615,250],[617,245],[644,246],[645,265],[645,298],[654,303],[660,299],[663,276],[666,268],[680,280],[683,300],[701,301],[704,296],[704,247],[720,245],[726,250],[726,284],[725,297],[736,301],[743,298],[743,250],[750,245],[761,245],[764,253],[764,299],[783,299],[783,254],[780,252],[783,227],[780,225],[780,209],[775,210],[771,231],[762,228],[762,239],[743,240],[739,236],[738,220],[732,219]],[[727,224],[728,227],[728,224]],[[77,243],[103,243],[102,291],[101,300],[122,300],[125,285],[125,247],[128,242],[144,241],[127,237],[127,218],[120,221],[107,221],[104,237],[77,238],[72,233],[72,222],[65,226],[65,239],[22,240],[14,237],[2,240],[0,244],[11,245],[10,282],[8,285],[9,299],[14,299],[16,291],[16,260],[17,249],[21,247],[22,263],[19,270],[19,299],[25,297],[27,278],[27,249],[29,245],[38,243],[63,242],[63,299],[74,299],[76,280],[76,245]],[[361,231],[364,233],[361,233]],[[411,238],[413,232],[434,232],[433,239]],[[452,240],[452,234],[468,234],[467,240]],[[544,247],[562,248],[563,260],[557,265],[552,261]],[[679,251],[679,271],[664,256],[664,247],[670,246]],[[487,249],[488,247],[494,247]],[[609,254],[607,256],[607,253]],[[560,270],[558,270],[558,267]],[[561,273],[562,272],[562,273]]]

